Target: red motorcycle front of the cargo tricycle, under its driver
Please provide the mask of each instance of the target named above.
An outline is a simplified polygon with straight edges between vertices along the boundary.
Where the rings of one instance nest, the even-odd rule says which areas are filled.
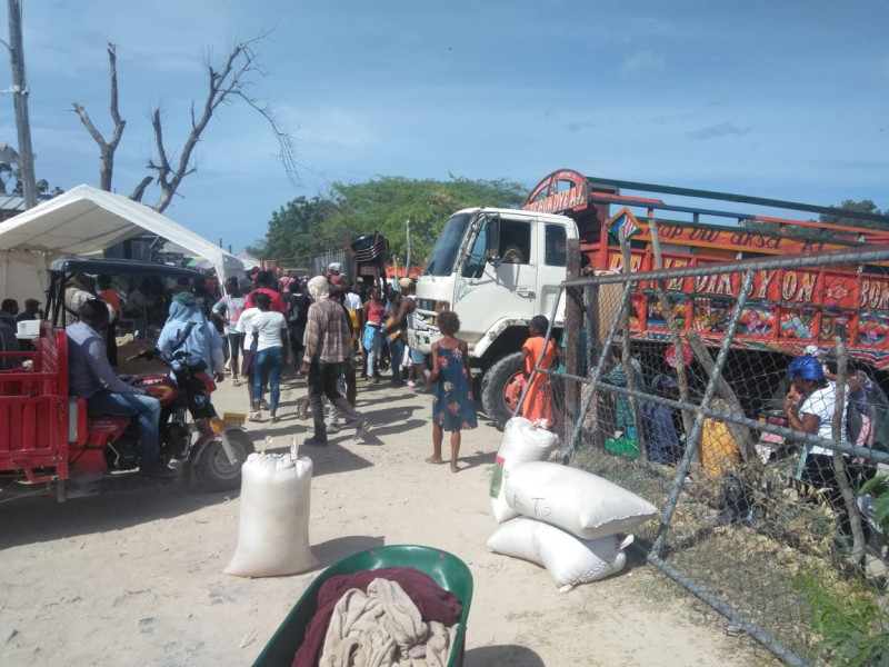
[[[210,491],[239,488],[241,466],[253,451],[253,444],[241,428],[227,425],[217,415],[210,401],[216,382],[207,372],[206,362],[184,351],[167,358],[153,348],[128,360],[137,359],[157,360],[169,369],[166,375],[121,378],[160,401],[160,456],[163,461],[182,461],[183,479],[189,486],[197,484]],[[76,468],[98,471],[103,468],[116,472],[139,467],[138,417],[89,417],[87,430],[88,441],[83,455],[74,461]],[[194,432],[197,439],[192,438]]]

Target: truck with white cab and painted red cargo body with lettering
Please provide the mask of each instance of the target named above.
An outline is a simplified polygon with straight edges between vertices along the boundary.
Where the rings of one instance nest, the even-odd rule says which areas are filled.
[[[622,195],[623,190],[648,196],[630,197]],[[667,203],[650,195],[672,195],[681,200]],[[686,205],[687,200],[696,205]],[[698,206],[698,201],[827,213],[877,221],[883,227],[880,230],[831,226],[717,210]],[[622,208],[612,216],[612,206]],[[633,215],[633,210],[639,212]],[[652,219],[658,221],[665,268],[889,242],[886,216],[587,178],[578,171],[561,169],[538,183],[521,210],[479,207],[457,211],[449,218],[417,281],[418,310],[426,316],[426,323],[423,329],[408,331],[409,345],[429,351],[438,338],[437,313],[447,309],[458,312],[460,336],[469,344],[473,370],[480,380],[482,407],[492,421],[502,426],[521,396],[519,350],[528,337],[528,325],[535,315],[549,316],[560,299],[560,283],[567,277],[566,248],[573,242],[579,246],[580,266],[586,275],[619,272],[623,270],[622,233],[629,238],[631,270],[653,269],[649,223]],[[825,230],[831,232],[830,238],[825,237]],[[693,327],[705,342],[716,345],[719,332],[715,329],[708,340],[707,325],[701,323],[708,321],[707,313],[700,310],[716,309],[715,303],[730,301],[738,293],[738,278],[726,277],[701,285],[693,283],[693,279],[673,282],[667,286],[667,291],[678,297],[682,329]],[[739,336],[741,345],[798,355],[810,342],[830,345],[832,325],[842,319],[851,331],[852,356],[879,369],[889,367],[889,275],[882,268],[869,267],[863,272],[795,269],[781,271],[780,276],[761,275],[755,295],[753,310],[756,303],[761,308],[756,318],[759,326],[751,316],[752,323]],[[630,319],[631,336],[665,341],[666,346],[670,334],[662,313],[657,315],[657,299],[640,291],[632,297],[632,308],[636,315]],[[559,303],[556,312],[553,326],[560,328],[563,303]],[[601,319],[607,320],[607,313]]]

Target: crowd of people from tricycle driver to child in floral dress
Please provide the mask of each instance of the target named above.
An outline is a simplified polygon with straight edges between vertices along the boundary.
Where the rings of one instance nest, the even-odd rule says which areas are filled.
[[[233,386],[246,386],[253,422],[280,421],[281,374],[293,368],[307,380],[294,416],[308,419],[311,412],[309,446],[324,446],[343,426],[354,429],[356,439],[368,431],[369,420],[356,409],[359,382],[388,379],[392,387],[431,394],[433,456],[427,460],[444,462],[441,441],[448,430],[451,469],[458,470],[460,430],[477,425],[467,346],[455,337],[459,319],[449,313],[429,364],[427,355],[407,347],[407,329],[420,318],[411,279],[366,283],[348,278],[334,262],[312,279],[262,270],[249,280],[231,277],[221,293],[213,280],[180,279],[171,287],[146,279],[131,290],[120,287],[110,277],[84,275],[66,285],[71,387],[91,414],[138,416],[142,472],[169,476],[172,470],[158,458],[158,401],[114,376],[121,321],[137,337],[156,339],[169,358],[182,350],[202,360],[216,381],[228,371]],[[29,300],[26,310],[36,312],[39,306]],[[0,329],[17,315],[18,305],[4,301]]]

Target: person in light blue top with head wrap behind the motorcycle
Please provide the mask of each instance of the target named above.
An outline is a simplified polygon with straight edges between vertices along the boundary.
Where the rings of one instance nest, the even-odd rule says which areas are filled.
[[[198,306],[192,292],[180,291],[170,302],[170,312],[158,337],[158,349],[167,357],[183,351],[194,362],[201,359],[217,382],[224,379],[226,357],[222,338]]]

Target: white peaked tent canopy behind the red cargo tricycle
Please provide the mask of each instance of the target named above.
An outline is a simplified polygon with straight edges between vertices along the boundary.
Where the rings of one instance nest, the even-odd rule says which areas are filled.
[[[62,255],[89,256],[150,231],[212,261],[220,280],[241,276],[243,262],[122,195],[78,186],[0,223],[0,297],[22,302],[46,293],[47,266]]]

